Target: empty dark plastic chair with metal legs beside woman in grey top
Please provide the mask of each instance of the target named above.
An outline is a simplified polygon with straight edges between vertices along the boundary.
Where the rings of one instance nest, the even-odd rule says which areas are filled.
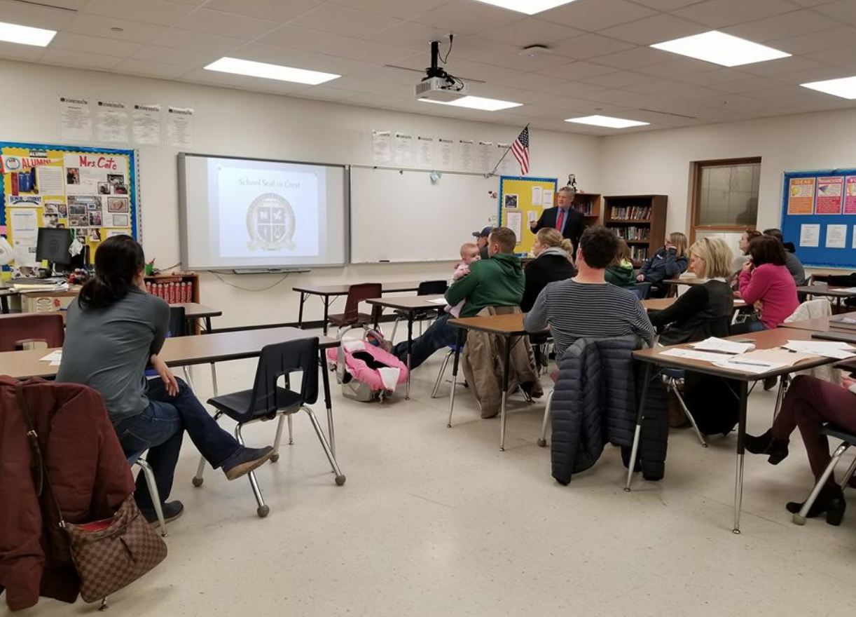
[[[300,382],[300,392],[288,389],[290,375],[301,371],[303,376]],[[276,385],[281,377],[286,380],[285,387]],[[306,411],[312,421],[312,428],[315,429],[315,434],[318,435],[318,440],[324,447],[324,453],[330,461],[330,467],[336,474],[336,484],[342,486],[345,483],[345,476],[342,475],[336,458],[330,451],[330,445],[324,437],[320,424],[318,424],[318,418],[308,407],[316,400],[318,400],[318,338],[301,338],[288,341],[288,343],[266,345],[259,357],[253,389],[209,398],[208,404],[217,409],[214,416],[215,420],[225,415],[238,423],[235,427],[235,439],[241,445],[244,443],[241,436],[241,429],[244,425],[250,422],[273,420],[279,416],[279,423],[276,425],[276,440],[273,446],[274,453],[270,458],[272,463],[276,463],[279,459],[282,421],[288,418],[288,443],[294,443],[291,432],[291,416],[300,410]],[[201,470],[204,469],[204,465],[205,459],[199,464],[199,471],[193,477],[193,486],[202,485]],[[248,476],[250,486],[253,487],[253,494],[255,494],[259,504],[256,512],[260,517],[265,517],[270,512],[270,507],[265,504],[255,472],[250,472]]]

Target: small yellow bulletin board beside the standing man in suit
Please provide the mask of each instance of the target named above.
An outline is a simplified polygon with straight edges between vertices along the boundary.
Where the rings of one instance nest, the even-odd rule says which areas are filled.
[[[537,221],[545,207],[553,207],[559,181],[556,178],[508,177],[499,179],[499,220],[517,236],[518,255],[529,255],[535,234],[530,221]]]

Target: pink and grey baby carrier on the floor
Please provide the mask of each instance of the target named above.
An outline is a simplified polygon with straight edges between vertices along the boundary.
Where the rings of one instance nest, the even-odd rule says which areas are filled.
[[[389,398],[407,381],[407,365],[386,349],[389,344],[378,332],[366,331],[361,339],[343,338],[346,332],[339,336],[336,349],[327,350],[327,363],[336,370],[342,395],[363,402]]]

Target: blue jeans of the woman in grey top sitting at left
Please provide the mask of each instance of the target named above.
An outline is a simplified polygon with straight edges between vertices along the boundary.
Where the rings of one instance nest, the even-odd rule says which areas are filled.
[[[190,386],[183,380],[176,380],[178,395],[175,397],[167,394],[160,379],[149,380],[146,388],[149,406],[137,416],[115,424],[119,443],[126,456],[148,450],[146,461],[154,471],[162,502],[167,500],[172,490],[184,431],[187,431],[193,445],[215,469],[241,449],[241,444],[232,435],[217,426]],[[137,476],[134,498],[140,508],[152,509],[152,496],[141,472]]]

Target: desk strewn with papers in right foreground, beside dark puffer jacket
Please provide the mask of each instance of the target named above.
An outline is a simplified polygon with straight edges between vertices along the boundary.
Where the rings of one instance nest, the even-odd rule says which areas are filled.
[[[765,330],[764,332],[752,332],[744,334],[738,338],[752,338],[756,349],[771,349],[773,347],[781,347],[783,344],[788,344],[788,340],[811,340],[811,330],[797,330],[791,328],[777,328],[776,330]],[[740,420],[737,424],[737,464],[734,474],[734,527],[735,534],[740,533],[740,508],[743,500],[743,457],[746,451],[746,401],[749,397],[749,384],[753,381],[764,380],[767,377],[778,377],[783,374],[791,374],[796,371],[805,370],[805,368],[814,368],[823,366],[824,364],[832,364],[841,362],[835,358],[827,358],[817,356],[803,362],[798,362],[794,366],[785,368],[776,368],[765,373],[751,374],[741,373],[727,368],[719,368],[710,362],[701,360],[691,360],[689,358],[681,358],[675,356],[663,356],[663,351],[679,348],[687,349],[687,344],[674,345],[674,347],[657,347],[650,350],[639,350],[633,352],[633,357],[640,362],[645,362],[645,377],[642,386],[642,395],[639,398],[639,410],[636,415],[636,433],[633,438],[633,450],[630,456],[631,463],[627,469],[627,485],[624,490],[630,490],[630,482],[633,478],[633,461],[636,460],[636,454],[639,448],[639,431],[642,426],[643,410],[645,410],[645,398],[648,395],[648,384],[651,380],[651,370],[654,366],[666,368],[684,368],[693,370],[696,373],[709,374],[716,377],[737,380],[740,382]]]

